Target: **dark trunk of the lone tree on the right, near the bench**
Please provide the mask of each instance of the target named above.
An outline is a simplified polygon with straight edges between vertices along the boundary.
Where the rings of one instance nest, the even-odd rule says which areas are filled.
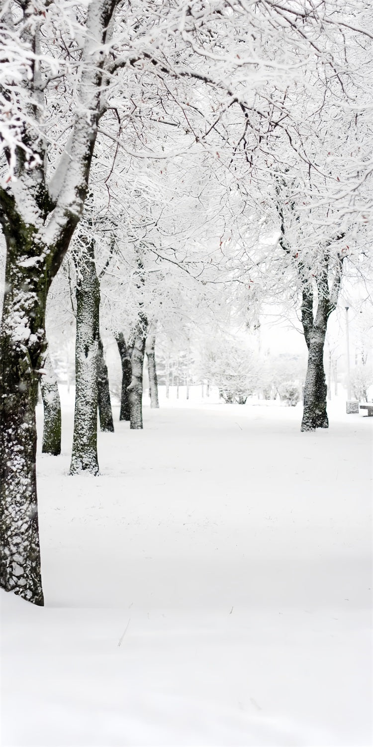
[[[327,330],[326,303],[319,303],[310,330],[308,364],[304,384],[304,411],[301,431],[327,428],[327,385],[324,371],[324,344]]]

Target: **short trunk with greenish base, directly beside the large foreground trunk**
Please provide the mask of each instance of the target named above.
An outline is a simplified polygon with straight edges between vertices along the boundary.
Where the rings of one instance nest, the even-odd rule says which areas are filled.
[[[57,379],[54,376],[48,350],[44,357],[43,370],[44,373],[40,373],[40,390],[44,407],[42,452],[58,456],[61,453],[61,403]]]

